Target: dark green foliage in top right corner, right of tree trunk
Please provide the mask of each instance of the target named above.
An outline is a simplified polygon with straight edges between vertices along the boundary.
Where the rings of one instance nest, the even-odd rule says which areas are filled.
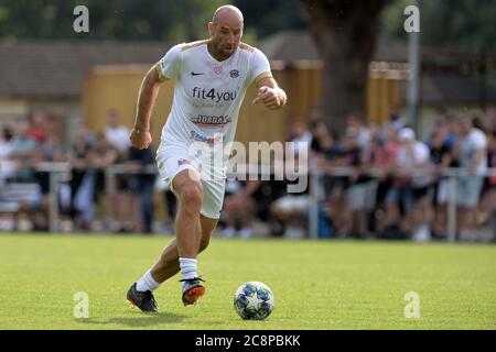
[[[393,1],[382,13],[382,31],[407,38],[403,9],[408,0]],[[479,51],[496,50],[496,1],[419,1],[422,44]]]

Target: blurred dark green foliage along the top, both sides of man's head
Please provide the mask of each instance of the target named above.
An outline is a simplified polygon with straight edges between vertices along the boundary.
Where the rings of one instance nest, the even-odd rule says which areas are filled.
[[[193,41],[208,35],[216,8],[245,13],[248,43],[287,29],[305,29],[299,0],[0,0],[0,40]],[[73,10],[89,9],[89,33],[75,33]]]

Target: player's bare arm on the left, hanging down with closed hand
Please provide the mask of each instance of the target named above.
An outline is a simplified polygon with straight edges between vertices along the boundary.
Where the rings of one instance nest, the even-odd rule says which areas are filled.
[[[152,142],[150,134],[150,118],[159,95],[160,84],[163,81],[157,65],[144,76],[138,95],[138,107],[134,127],[131,130],[130,140],[134,147],[147,148]]]

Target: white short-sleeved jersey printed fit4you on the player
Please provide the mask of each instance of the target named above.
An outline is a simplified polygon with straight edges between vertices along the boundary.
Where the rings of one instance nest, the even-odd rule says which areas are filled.
[[[162,144],[233,142],[248,86],[271,77],[267,57],[241,43],[226,61],[215,59],[207,41],[177,44],[155,66],[160,78],[175,79],[174,99]]]

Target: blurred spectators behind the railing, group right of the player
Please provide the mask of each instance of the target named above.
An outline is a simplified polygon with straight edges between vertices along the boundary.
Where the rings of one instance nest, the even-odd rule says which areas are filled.
[[[310,169],[323,172],[316,190],[320,237],[446,239],[453,193],[459,237],[483,228],[496,233],[496,175],[487,175],[496,167],[496,110],[440,114],[425,139],[392,110],[384,125],[349,116],[338,136],[316,118],[295,123],[288,141],[306,143]],[[450,172],[460,174],[454,191]],[[237,184],[235,195],[226,197],[226,237],[236,233],[235,218],[240,237],[251,233],[245,212],[259,213],[251,205],[263,209],[258,217],[270,233],[308,235],[308,193],[285,194],[278,182]]]

